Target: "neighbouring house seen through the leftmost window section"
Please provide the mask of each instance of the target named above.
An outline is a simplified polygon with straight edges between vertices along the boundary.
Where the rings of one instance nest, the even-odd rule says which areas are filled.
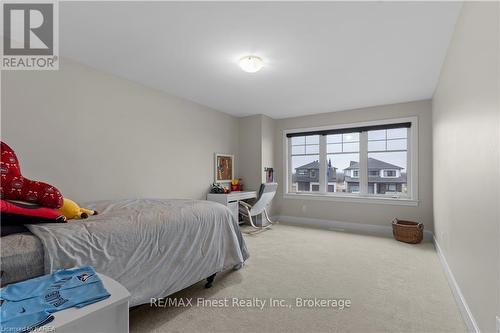
[[[335,192],[337,187],[337,168],[332,167],[328,161],[328,192]],[[296,191],[319,191],[319,162],[313,161],[309,164],[295,168],[292,183]]]

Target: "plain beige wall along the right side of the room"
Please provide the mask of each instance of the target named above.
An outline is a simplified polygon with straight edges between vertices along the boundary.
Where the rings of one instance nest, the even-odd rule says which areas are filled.
[[[464,3],[433,99],[435,235],[483,332],[500,314],[498,13]]]

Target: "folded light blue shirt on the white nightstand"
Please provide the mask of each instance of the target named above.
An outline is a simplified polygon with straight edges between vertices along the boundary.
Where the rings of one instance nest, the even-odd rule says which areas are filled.
[[[110,294],[90,266],[65,269],[0,290],[0,329],[19,332],[47,323],[51,313],[83,307]],[[18,326],[14,326],[18,325]],[[41,324],[44,325],[44,324]],[[40,326],[40,324],[38,325]]]

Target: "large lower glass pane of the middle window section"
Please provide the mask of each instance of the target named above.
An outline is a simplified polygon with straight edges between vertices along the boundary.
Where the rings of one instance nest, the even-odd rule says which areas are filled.
[[[359,178],[353,179],[351,175],[352,169],[349,167],[358,167],[359,152],[352,154],[327,154],[327,179],[328,192],[347,193],[347,187],[351,185],[359,185]],[[348,170],[346,170],[348,169]]]

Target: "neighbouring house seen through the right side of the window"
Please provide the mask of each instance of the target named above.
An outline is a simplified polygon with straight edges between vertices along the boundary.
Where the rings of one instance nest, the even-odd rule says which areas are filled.
[[[406,192],[406,174],[403,168],[375,158],[368,158],[368,193],[390,194]],[[359,192],[359,163],[351,161],[344,169],[346,192]]]

